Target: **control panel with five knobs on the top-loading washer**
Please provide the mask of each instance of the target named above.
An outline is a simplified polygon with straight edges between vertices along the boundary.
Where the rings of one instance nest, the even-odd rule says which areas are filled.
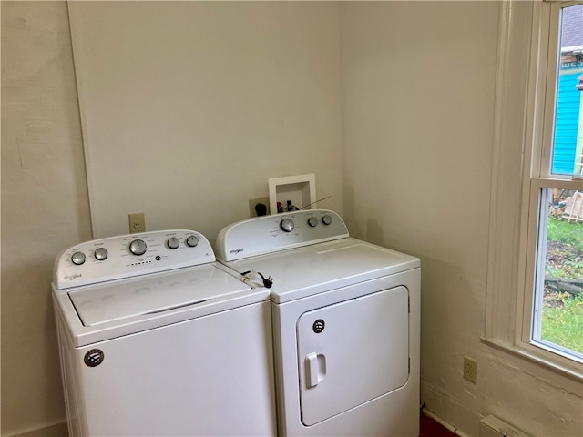
[[[63,250],[55,260],[56,289],[198,266],[215,260],[210,242],[174,229],[95,239]]]

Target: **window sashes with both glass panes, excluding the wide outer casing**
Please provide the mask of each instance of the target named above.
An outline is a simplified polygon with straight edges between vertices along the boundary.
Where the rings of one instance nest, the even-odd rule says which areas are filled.
[[[521,340],[583,362],[583,3],[544,5],[538,27]]]

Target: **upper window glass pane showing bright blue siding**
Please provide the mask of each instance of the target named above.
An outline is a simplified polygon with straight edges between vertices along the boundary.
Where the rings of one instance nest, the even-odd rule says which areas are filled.
[[[551,173],[583,175],[583,5],[564,7]]]

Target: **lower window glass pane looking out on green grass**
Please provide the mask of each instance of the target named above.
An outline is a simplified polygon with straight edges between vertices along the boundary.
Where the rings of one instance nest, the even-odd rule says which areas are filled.
[[[543,188],[535,342],[583,360],[583,192]]]

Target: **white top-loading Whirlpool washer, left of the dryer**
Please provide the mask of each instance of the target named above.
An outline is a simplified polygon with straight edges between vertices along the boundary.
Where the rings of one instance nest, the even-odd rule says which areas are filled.
[[[269,290],[198,232],[77,244],[52,285],[70,437],[276,434]]]

